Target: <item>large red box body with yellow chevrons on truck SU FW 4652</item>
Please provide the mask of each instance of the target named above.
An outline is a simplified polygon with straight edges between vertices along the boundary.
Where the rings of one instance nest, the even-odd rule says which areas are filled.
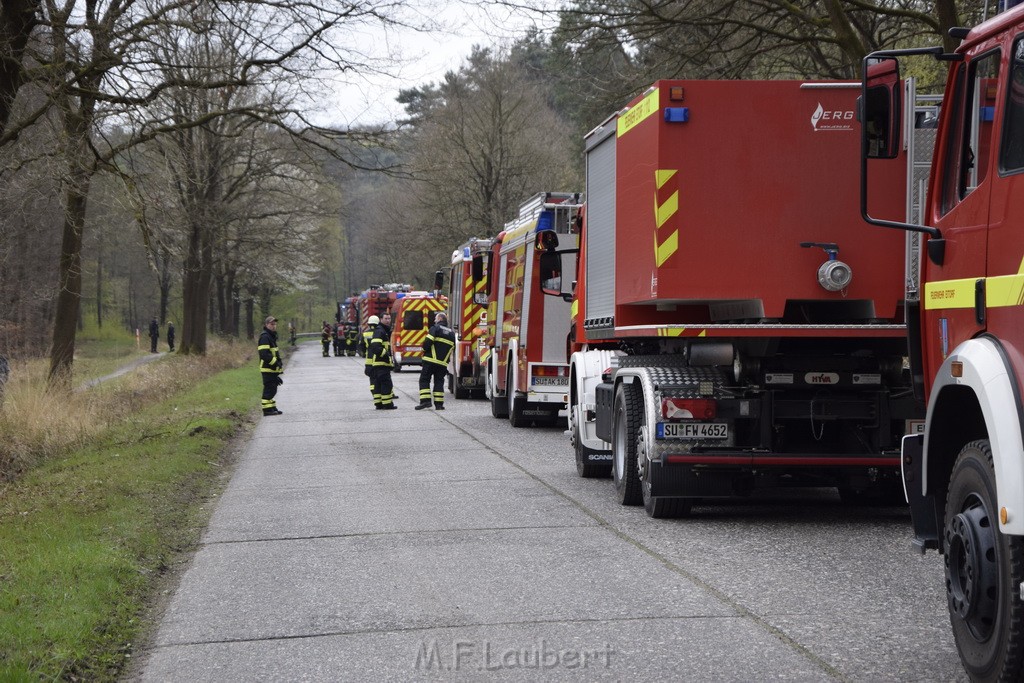
[[[613,220],[606,207],[594,206],[600,180],[588,185],[588,226],[602,226],[585,248],[581,312],[613,321],[590,337],[666,334],[659,326],[683,336],[766,334],[736,329],[737,319],[785,326],[771,335],[801,335],[809,322],[829,322],[803,316],[818,302],[901,323],[904,237],[865,233],[851,191],[859,180],[858,94],[856,84],[659,81],[634,99],[608,124],[616,128]],[[685,121],[667,121],[672,110]],[[904,185],[905,167],[893,164],[872,177],[872,196],[902,212]],[[611,254],[604,246],[609,232]],[[853,270],[849,287],[819,286],[825,254],[802,248],[806,242],[838,245],[839,259]],[[593,257],[595,249],[603,258]],[[614,280],[613,308],[595,310],[586,296],[607,279]],[[903,332],[819,326],[811,334]]]

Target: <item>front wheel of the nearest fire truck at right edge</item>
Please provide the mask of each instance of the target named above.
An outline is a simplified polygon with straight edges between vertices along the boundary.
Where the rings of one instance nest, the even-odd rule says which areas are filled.
[[[1024,539],[999,531],[992,449],[964,446],[953,466],[943,524],[946,599],[961,661],[973,680],[1024,674]]]

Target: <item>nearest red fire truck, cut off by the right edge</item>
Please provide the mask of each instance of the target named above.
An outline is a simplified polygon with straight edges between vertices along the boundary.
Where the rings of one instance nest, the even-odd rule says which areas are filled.
[[[928,401],[924,433],[903,443],[914,546],[945,556],[949,618],[970,677],[1019,681],[1024,7],[950,35],[963,41],[954,54],[936,47],[865,59],[862,211],[868,222],[920,236],[927,253],[920,301],[908,311],[910,367]],[[876,182],[912,141],[901,116],[900,62],[931,57],[949,65],[949,74],[923,218],[912,223],[876,207]],[[894,230],[866,237],[873,232]]]

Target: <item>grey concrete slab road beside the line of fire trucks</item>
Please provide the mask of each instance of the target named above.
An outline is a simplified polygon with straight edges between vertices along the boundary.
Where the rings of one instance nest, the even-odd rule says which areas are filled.
[[[143,680],[966,680],[905,511],[814,490],[651,520],[560,429],[413,411],[408,371],[374,411],[360,362],[290,360]]]

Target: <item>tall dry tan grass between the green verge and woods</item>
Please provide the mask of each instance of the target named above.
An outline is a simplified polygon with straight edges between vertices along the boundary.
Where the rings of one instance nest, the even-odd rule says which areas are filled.
[[[165,356],[81,391],[47,390],[44,362],[12,364],[0,403],[0,481],[89,442],[201,379],[240,367],[252,353],[249,343],[211,340],[206,356]]]

